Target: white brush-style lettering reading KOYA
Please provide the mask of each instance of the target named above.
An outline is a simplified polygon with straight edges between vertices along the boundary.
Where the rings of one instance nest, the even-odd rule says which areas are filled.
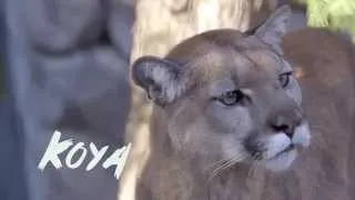
[[[59,131],[54,131],[52,139],[40,161],[40,163],[38,164],[38,168],[40,170],[44,170],[45,166],[51,162],[53,164],[53,167],[55,169],[60,169],[62,168],[62,163],[59,159],[59,154],[62,153],[63,151],[65,151],[68,148],[70,148],[71,146],[73,146],[72,140],[64,140],[64,141],[60,141],[60,137],[61,133]],[[109,149],[108,146],[101,148],[100,150],[98,150],[97,146],[94,143],[90,143],[89,144],[90,148],[90,152],[92,154],[92,160],[88,163],[85,170],[90,171],[92,170],[101,160],[101,158],[104,156],[104,153],[106,152],[106,150]],[[118,150],[115,150],[103,163],[102,167],[104,169],[108,169],[111,166],[115,166],[115,170],[114,170],[114,177],[116,179],[120,178],[120,174],[123,170],[125,160],[128,158],[129,151],[131,149],[131,143],[129,143],[126,147],[122,147]],[[80,157],[78,160],[73,161],[73,156],[75,153],[80,153]],[[84,147],[83,142],[79,142],[75,146],[73,146],[70,151],[68,152],[67,157],[65,157],[65,164],[68,166],[68,168],[71,169],[75,169],[79,168],[80,164],[84,161],[85,157],[87,157],[88,150]]]

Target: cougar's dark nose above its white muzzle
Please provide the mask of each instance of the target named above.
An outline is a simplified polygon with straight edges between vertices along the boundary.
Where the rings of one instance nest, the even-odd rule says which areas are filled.
[[[284,132],[291,139],[301,120],[302,114],[298,111],[282,112],[272,117],[268,123],[274,131]]]

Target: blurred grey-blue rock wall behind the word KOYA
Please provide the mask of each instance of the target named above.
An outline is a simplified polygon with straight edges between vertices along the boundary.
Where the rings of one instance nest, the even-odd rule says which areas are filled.
[[[108,152],[124,144],[132,2],[7,0],[6,17],[29,199],[115,199],[113,169],[87,172],[89,156],[79,169],[65,166],[68,151],[62,169],[37,166],[55,129],[61,140],[109,146]]]

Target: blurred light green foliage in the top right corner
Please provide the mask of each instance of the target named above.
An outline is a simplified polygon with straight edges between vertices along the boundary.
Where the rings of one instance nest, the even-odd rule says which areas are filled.
[[[355,37],[355,0],[297,0],[307,8],[310,27],[347,30]]]

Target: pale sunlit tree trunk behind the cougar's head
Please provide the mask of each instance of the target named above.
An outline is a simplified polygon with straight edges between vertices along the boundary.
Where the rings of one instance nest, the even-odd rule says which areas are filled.
[[[277,6],[277,0],[139,0],[131,61],[142,56],[163,57],[193,34],[219,28],[241,31],[258,24]],[[120,199],[134,199],[135,177],[149,156],[151,103],[131,81],[132,102],[125,142],[132,142],[121,178]]]

